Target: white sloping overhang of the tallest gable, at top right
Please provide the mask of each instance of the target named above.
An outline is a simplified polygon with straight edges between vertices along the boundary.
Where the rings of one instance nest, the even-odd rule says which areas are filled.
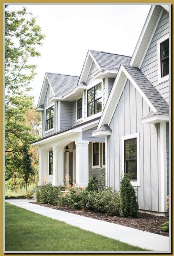
[[[134,53],[130,60],[131,66],[139,67],[139,68],[141,67],[142,61],[148,50],[149,44],[151,43],[152,37],[159,23],[162,12],[164,9],[167,11],[167,6],[169,10],[169,5],[154,4],[151,6],[148,17],[146,18],[145,24],[139,36]]]

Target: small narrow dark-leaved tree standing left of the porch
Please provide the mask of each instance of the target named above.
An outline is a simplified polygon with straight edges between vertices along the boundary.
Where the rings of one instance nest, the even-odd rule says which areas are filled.
[[[28,179],[34,174],[34,169],[32,167],[31,154],[29,153],[28,145],[23,145],[22,147],[23,158],[22,158],[22,177],[26,184],[26,191],[28,185]]]

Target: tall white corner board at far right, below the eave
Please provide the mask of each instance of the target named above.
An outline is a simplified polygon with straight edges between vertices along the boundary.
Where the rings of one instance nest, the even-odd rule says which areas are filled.
[[[167,212],[167,142],[166,122],[160,123],[160,161],[161,161],[161,212]]]

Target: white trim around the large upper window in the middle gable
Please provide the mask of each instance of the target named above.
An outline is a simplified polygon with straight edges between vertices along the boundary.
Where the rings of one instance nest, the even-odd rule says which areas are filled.
[[[93,88],[94,86],[96,86],[97,84],[100,84],[101,83],[101,94],[102,94],[102,97],[101,97],[101,100],[102,100],[102,111],[99,112],[99,113],[96,113],[92,116],[88,116],[88,90],[90,90],[91,88]],[[87,87],[86,89],[86,121],[88,120],[92,120],[94,118],[97,118],[99,116],[101,116],[103,113],[103,79],[100,79],[99,82],[98,81],[94,81],[93,83],[89,84],[89,87]]]

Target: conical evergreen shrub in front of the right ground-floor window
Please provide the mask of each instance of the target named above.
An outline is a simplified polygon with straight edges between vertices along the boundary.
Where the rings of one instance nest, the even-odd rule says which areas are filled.
[[[125,174],[120,182],[120,215],[136,216],[138,212],[137,196],[130,183],[130,176]]]

